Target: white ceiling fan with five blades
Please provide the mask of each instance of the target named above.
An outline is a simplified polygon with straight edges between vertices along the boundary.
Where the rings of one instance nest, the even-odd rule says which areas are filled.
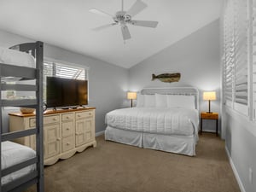
[[[124,0],[122,0],[121,10],[116,12],[115,15],[108,14],[100,9],[90,9],[91,13],[98,14],[98,15],[104,15],[104,16],[110,16],[113,19],[113,23],[98,26],[94,28],[94,31],[100,31],[102,29],[108,28],[110,26],[121,26],[121,32],[123,35],[124,41],[131,38],[131,34],[129,32],[127,24],[133,25],[133,26],[146,26],[146,27],[152,27],[155,28],[158,24],[158,21],[153,20],[132,20],[132,17],[140,13],[143,9],[147,7],[146,3],[143,3],[141,0],[137,0],[136,3],[134,3],[131,8],[127,11],[124,10]]]

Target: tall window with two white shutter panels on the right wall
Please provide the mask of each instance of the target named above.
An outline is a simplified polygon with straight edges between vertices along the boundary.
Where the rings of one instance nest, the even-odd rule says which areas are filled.
[[[224,11],[224,99],[248,115],[247,1],[228,0]]]

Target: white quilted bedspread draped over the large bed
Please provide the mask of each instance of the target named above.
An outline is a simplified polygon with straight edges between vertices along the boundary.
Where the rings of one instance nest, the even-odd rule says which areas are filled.
[[[106,124],[123,130],[167,135],[197,134],[198,111],[186,108],[122,108],[106,114]]]

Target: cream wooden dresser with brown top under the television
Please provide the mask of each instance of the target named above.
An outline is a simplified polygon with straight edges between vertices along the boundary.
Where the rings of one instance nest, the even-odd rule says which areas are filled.
[[[44,165],[53,165],[89,146],[96,147],[95,109],[79,108],[46,111],[44,113]],[[9,131],[35,127],[34,113],[9,113]],[[15,142],[36,148],[35,136],[22,137]]]

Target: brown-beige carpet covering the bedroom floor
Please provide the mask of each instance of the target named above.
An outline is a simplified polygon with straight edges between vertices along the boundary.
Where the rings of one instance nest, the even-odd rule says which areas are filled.
[[[103,136],[96,141],[96,148],[46,166],[45,192],[240,191],[224,141],[214,134],[203,133],[195,157],[107,142]]]

